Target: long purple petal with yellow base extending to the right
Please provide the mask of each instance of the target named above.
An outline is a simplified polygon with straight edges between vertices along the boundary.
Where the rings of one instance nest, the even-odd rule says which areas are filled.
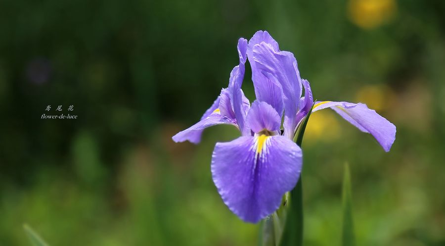
[[[396,126],[376,113],[375,110],[369,109],[363,103],[317,101],[312,112],[328,107],[332,108],[360,131],[370,133],[386,152],[391,149],[396,140]]]

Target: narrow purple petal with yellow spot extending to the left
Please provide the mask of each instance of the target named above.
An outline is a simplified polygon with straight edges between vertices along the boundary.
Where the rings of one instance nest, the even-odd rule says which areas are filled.
[[[198,144],[201,141],[202,131],[205,128],[220,124],[237,126],[236,122],[233,121],[233,119],[230,119],[227,116],[221,114],[221,112],[219,112],[219,109],[216,109],[215,112],[200,120],[198,123],[181,132],[178,132],[175,136],[172,137],[172,139],[176,143],[189,141],[193,144]]]

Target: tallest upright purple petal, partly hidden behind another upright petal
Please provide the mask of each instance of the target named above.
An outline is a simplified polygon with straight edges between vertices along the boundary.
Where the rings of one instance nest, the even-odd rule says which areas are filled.
[[[257,69],[256,62],[253,58],[253,47],[257,44],[265,42],[269,44],[275,51],[279,51],[278,43],[267,33],[267,31],[258,31],[249,40],[247,47],[247,57],[252,67],[252,81],[255,88],[255,96],[257,100],[265,101],[270,104],[278,114],[283,114],[283,89],[279,82],[273,76],[265,76],[260,69]]]

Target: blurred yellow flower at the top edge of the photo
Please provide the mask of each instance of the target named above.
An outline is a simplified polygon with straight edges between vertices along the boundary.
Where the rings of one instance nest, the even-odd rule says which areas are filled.
[[[371,29],[388,22],[397,12],[396,0],[350,0],[348,4],[352,22]]]

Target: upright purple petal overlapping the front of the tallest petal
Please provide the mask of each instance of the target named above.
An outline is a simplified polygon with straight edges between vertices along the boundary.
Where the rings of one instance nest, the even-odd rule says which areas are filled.
[[[301,78],[297,60],[291,52],[275,51],[272,46],[262,42],[253,47],[253,58],[258,69],[272,74],[283,89],[284,136],[293,138],[297,123],[297,108],[302,94]]]

